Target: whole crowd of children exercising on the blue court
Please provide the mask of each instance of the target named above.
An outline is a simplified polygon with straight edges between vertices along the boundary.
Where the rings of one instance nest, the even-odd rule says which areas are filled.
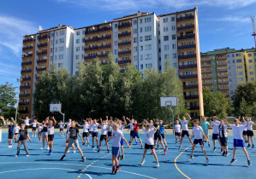
[[[213,151],[217,149],[217,144],[216,141],[219,142],[221,146],[221,152],[223,156],[229,156],[228,152],[228,127],[233,130],[233,138],[234,138],[234,149],[233,149],[233,159],[231,160],[230,163],[234,163],[236,161],[235,159],[235,154],[236,154],[236,147],[242,147],[242,150],[244,151],[246,157],[247,157],[247,163],[248,165],[252,165],[251,161],[249,159],[247,149],[245,147],[245,142],[248,143],[247,147],[250,147],[250,139],[252,141],[252,147],[254,147],[253,144],[253,128],[252,126],[255,125],[252,121],[251,118],[245,118],[242,119],[240,122],[240,119],[235,119],[234,124],[229,124],[227,121],[227,118],[224,120],[218,121],[217,117],[213,117],[213,121],[210,120],[210,123],[206,121],[206,118],[203,118],[203,121],[199,123],[199,120],[193,120],[193,136],[191,137],[189,135],[188,131],[188,123],[191,121],[190,116],[188,113],[186,113],[188,116],[188,120],[185,116],[180,119],[180,113],[178,113],[178,117],[176,120],[175,124],[175,136],[176,136],[176,144],[177,144],[177,139],[180,139],[180,147],[179,149],[182,148],[182,141],[184,136],[188,136],[188,140],[192,144],[192,150],[191,150],[191,156],[189,157],[188,160],[193,159],[193,152],[195,150],[195,146],[197,144],[200,145],[202,152],[205,155],[205,165],[208,165],[209,159],[207,157],[207,154],[205,152],[204,145],[206,142],[208,142],[208,146],[210,147],[210,138],[209,138],[209,128],[213,128],[213,133],[212,133],[212,142],[213,142]],[[4,118],[1,116],[0,117],[3,120],[3,125],[7,126],[7,121],[9,119],[4,120]],[[21,124],[21,128],[19,127],[18,124],[15,124],[14,118],[11,118],[12,122],[8,125],[9,126],[9,135],[8,135],[8,141],[9,141],[9,147],[12,147],[12,138],[13,134],[15,134],[15,142],[18,142],[18,147],[17,147],[17,153],[16,157],[18,157],[20,153],[20,148],[21,145],[23,144],[27,156],[29,156],[28,149],[27,149],[27,139],[31,141],[30,136],[28,135],[28,126],[33,125],[33,135],[36,137],[36,131],[35,128],[38,126],[39,129],[39,141],[42,141],[43,147],[41,149],[45,148],[45,141],[47,142],[47,146],[49,149],[48,154],[52,154],[53,150],[53,141],[54,141],[54,129],[57,125],[60,126],[60,136],[63,136],[63,128],[65,125],[67,126],[67,133],[66,133],[66,148],[63,154],[63,157],[61,160],[65,159],[66,153],[69,153],[69,147],[75,147],[80,151],[82,161],[86,161],[85,156],[83,155],[83,152],[80,148],[79,141],[78,141],[78,136],[80,137],[82,141],[82,145],[85,145],[87,142],[87,146],[89,147],[89,136],[92,136],[92,148],[94,148],[94,144],[96,141],[96,146],[98,149],[98,153],[102,150],[102,142],[105,141],[105,145],[107,147],[107,153],[110,153],[110,147],[109,147],[109,141],[112,140],[112,147],[111,147],[111,152],[112,152],[112,174],[116,174],[118,170],[120,170],[119,166],[119,159],[124,159],[124,153],[123,153],[123,141],[127,143],[128,147],[132,146],[132,143],[135,140],[139,140],[141,144],[141,148],[144,148],[144,153],[142,157],[142,161],[140,165],[144,165],[145,163],[145,157],[146,157],[146,152],[148,149],[152,150],[152,155],[156,159],[156,164],[157,167],[159,167],[158,163],[158,156],[155,152],[155,147],[158,148],[159,143],[161,143],[164,154],[166,154],[166,151],[168,149],[167,147],[167,142],[165,141],[165,136],[164,132],[168,135],[164,127],[170,126],[173,123],[170,124],[164,124],[164,121],[158,120],[158,119],[153,119],[153,120],[146,120],[142,123],[138,123],[134,119],[129,119],[123,117],[122,120],[115,118],[113,120],[112,117],[110,119],[106,117],[105,120],[100,118],[99,120],[93,119],[92,118],[86,118],[84,119],[84,124],[78,124],[74,120],[72,121],[71,119],[68,120],[67,123],[63,123],[60,121],[57,124],[57,121],[54,117],[50,118],[47,117],[45,118],[45,121],[42,123],[39,123],[35,117],[34,118],[26,118],[26,119],[21,119],[24,121],[24,124]],[[33,120],[32,124],[29,124],[29,121]],[[129,121],[129,124],[127,124],[127,120]],[[99,123],[98,123],[99,122]],[[182,125],[180,125],[181,123]],[[139,126],[142,124],[142,130],[145,133],[145,145],[143,146],[143,142],[140,139],[139,135]],[[83,128],[83,133],[82,136],[80,135],[79,128]],[[123,129],[129,126],[130,131],[130,141],[126,141],[126,139],[123,136]],[[98,142],[98,128],[101,129],[101,135],[99,138]],[[18,135],[20,134],[20,137],[18,138]],[[202,137],[202,136],[203,137]],[[41,140],[42,136],[42,140]],[[193,141],[192,141],[193,138]],[[164,142],[163,142],[164,141]],[[137,141],[136,141],[137,144]],[[75,153],[75,148],[74,148],[74,153]]]

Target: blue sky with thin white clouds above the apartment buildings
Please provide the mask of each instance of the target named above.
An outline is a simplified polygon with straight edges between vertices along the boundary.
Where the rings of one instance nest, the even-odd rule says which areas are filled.
[[[25,34],[58,24],[79,28],[141,12],[169,14],[198,8],[201,52],[254,47],[256,0],[0,0],[0,84],[18,86]]]

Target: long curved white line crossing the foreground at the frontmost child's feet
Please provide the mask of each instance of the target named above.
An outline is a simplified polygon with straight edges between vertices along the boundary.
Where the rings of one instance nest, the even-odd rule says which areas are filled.
[[[48,162],[1,162],[0,165],[2,165],[2,164],[4,164],[4,165],[5,164],[16,164],[16,163],[19,163],[19,164],[75,165],[75,164],[67,164],[67,163],[48,163]],[[101,169],[106,169],[106,170],[112,170],[110,168],[105,168],[105,167],[100,167],[100,166],[92,166],[92,165],[75,165],[75,166],[90,166],[90,167],[94,167],[94,168],[101,168]],[[5,171],[3,171],[3,172],[5,172]],[[125,172],[125,173],[133,174],[133,175],[136,175],[136,176],[144,176],[144,175],[140,175],[138,173],[129,172],[129,171],[126,171],[126,170],[120,170],[120,172]],[[144,176],[144,177],[156,179],[156,178],[153,178],[151,176]]]

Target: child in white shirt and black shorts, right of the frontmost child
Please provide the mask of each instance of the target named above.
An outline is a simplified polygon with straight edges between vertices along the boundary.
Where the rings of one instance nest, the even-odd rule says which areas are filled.
[[[145,147],[144,147],[143,158],[140,165],[144,165],[145,163],[147,149],[152,149],[152,154],[156,159],[157,167],[159,167],[158,156],[157,156],[157,153],[155,152],[155,146],[154,146],[154,134],[157,131],[157,129],[152,124],[148,124],[146,120],[144,120],[144,123],[142,124],[142,130],[145,132]]]

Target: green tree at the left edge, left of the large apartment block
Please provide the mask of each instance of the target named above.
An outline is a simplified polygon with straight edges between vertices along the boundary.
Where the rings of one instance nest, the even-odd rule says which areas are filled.
[[[15,103],[17,101],[15,99],[15,89],[16,87],[13,87],[13,84],[8,82],[0,85],[0,109],[2,110],[1,115],[4,118],[15,117]]]

